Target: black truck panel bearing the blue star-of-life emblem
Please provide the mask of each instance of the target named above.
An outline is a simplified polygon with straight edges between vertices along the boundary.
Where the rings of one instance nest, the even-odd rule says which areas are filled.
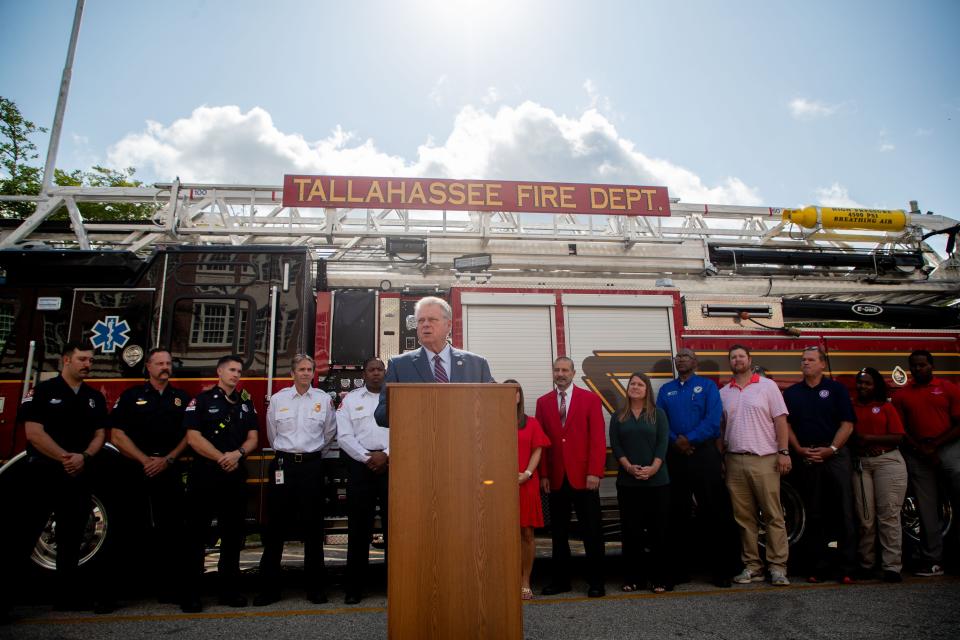
[[[69,339],[94,351],[94,376],[140,378],[153,346],[155,289],[75,289]]]

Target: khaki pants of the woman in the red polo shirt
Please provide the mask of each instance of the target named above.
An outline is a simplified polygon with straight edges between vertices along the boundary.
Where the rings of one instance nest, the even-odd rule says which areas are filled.
[[[900,509],[907,496],[907,465],[894,449],[873,458],[860,458],[861,473],[853,474],[854,503],[860,520],[860,566],[872,569],[874,546],[880,536],[880,564],[884,571],[903,568],[903,531]]]

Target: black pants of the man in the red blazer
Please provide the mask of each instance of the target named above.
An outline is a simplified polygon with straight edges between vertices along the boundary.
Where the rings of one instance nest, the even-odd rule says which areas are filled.
[[[567,478],[550,492],[550,534],[553,538],[553,584],[570,583],[570,509],[577,512],[587,556],[587,582],[603,587],[603,524],[600,492],[574,489]]]

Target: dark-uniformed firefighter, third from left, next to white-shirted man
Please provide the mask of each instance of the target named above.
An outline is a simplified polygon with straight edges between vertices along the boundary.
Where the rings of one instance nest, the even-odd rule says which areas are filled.
[[[187,483],[187,570],[180,605],[186,613],[202,609],[200,578],[214,516],[220,538],[219,602],[231,607],[247,605],[238,584],[247,510],[243,458],[257,447],[257,414],[250,394],[237,391],[242,371],[239,356],[220,358],[217,385],[200,392],[184,412],[187,443],[194,451]]]

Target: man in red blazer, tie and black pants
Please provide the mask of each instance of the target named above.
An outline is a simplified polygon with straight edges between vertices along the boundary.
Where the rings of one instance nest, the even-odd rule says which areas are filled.
[[[551,446],[540,459],[540,483],[550,497],[550,531],[553,535],[553,579],[543,595],[570,591],[570,508],[587,552],[587,595],[605,595],[603,582],[603,531],[600,515],[600,478],[607,458],[606,427],[600,398],[573,384],[573,360],[553,362],[554,390],[537,399],[537,421]]]

